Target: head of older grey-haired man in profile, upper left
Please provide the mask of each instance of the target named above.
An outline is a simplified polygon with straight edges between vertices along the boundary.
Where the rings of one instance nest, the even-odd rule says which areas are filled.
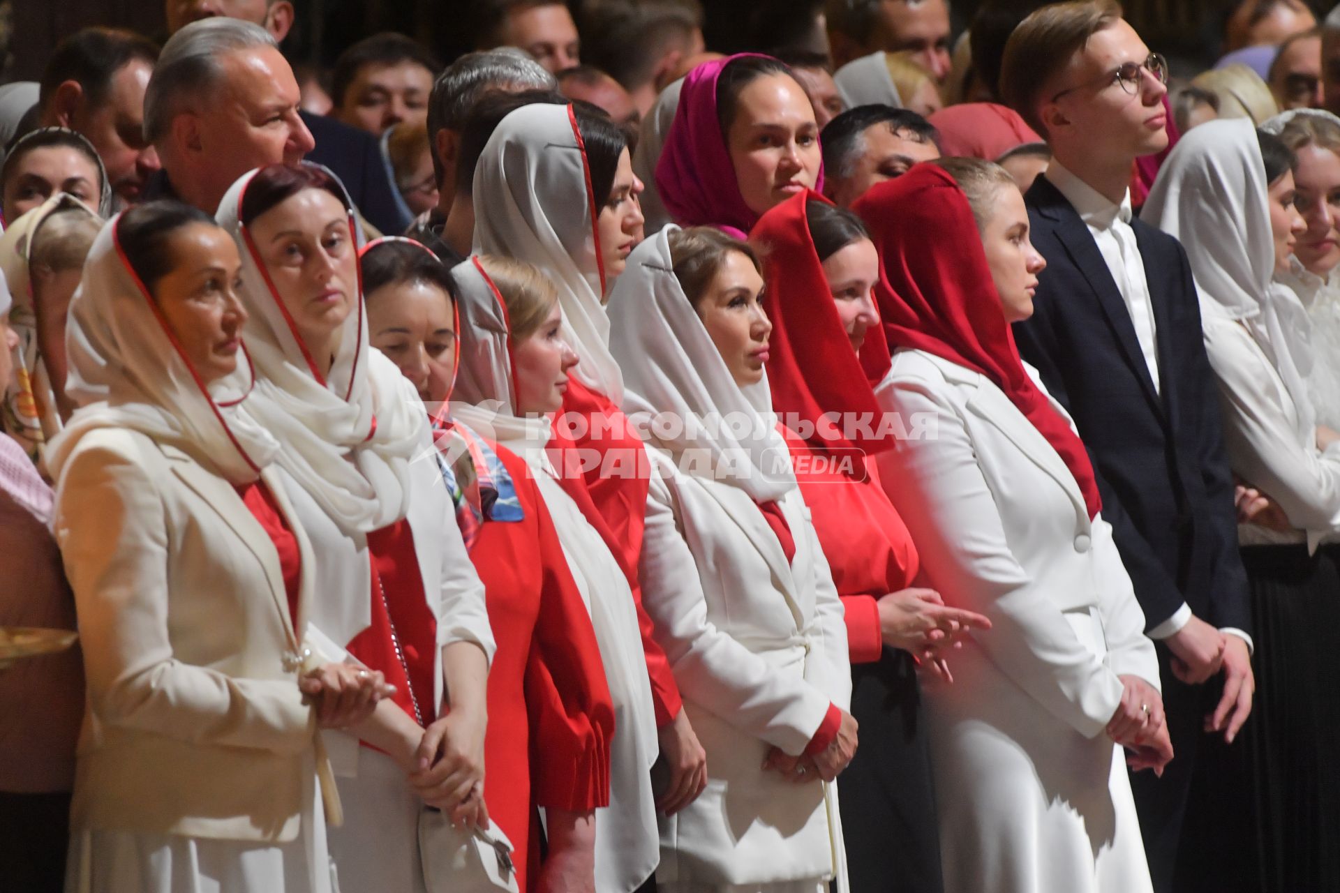
[[[252,167],[297,163],[315,146],[297,103],[293,71],[264,28],[224,17],[185,25],[145,92],[145,137],[163,167],[151,197],[213,214]]]

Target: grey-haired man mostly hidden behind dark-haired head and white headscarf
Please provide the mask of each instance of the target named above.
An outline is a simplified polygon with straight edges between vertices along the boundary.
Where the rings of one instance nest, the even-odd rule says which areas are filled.
[[[461,258],[461,252],[444,240],[442,228],[452,214],[456,194],[456,166],[461,154],[461,135],[474,103],[486,92],[521,92],[524,90],[557,90],[548,71],[520,50],[503,47],[468,52],[446,67],[433,84],[427,100],[427,138],[433,147],[433,173],[437,178],[437,208],[422,214],[409,234],[431,248],[444,261]],[[465,202],[469,195],[462,197]],[[462,220],[457,213],[457,220]],[[469,214],[473,228],[473,214]],[[468,241],[468,238],[466,238]]]

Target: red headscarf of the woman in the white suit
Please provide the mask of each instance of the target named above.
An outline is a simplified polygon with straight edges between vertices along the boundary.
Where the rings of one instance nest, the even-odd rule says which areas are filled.
[[[875,287],[884,336],[981,372],[1005,392],[1075,475],[1089,517],[1101,499],[1084,443],[1024,370],[1001,313],[967,197],[943,167],[917,165],[854,206],[884,274]]]

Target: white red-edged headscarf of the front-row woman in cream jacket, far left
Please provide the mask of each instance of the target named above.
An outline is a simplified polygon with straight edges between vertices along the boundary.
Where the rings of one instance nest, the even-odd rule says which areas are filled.
[[[125,427],[170,443],[230,483],[255,481],[279,442],[239,404],[255,386],[245,348],[237,370],[201,383],[177,337],[117,244],[121,214],[110,220],[84,262],[70,301],[66,392],[80,408],[47,449],[59,478],[79,439],[94,428]]]

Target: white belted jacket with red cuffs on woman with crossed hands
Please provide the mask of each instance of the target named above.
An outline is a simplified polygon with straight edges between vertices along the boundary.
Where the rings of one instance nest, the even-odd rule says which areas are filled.
[[[779,501],[788,562],[749,495],[650,449],[643,606],[708,751],[708,787],[661,817],[665,882],[781,884],[842,873],[836,786],[761,768],[799,755],[831,703],[851,704],[842,600],[800,489]]]

